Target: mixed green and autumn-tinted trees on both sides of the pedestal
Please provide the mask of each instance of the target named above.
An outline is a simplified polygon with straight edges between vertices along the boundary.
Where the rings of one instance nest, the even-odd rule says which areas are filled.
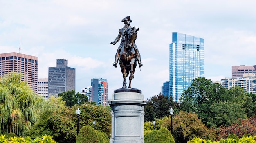
[[[24,137],[25,141],[37,141],[38,136],[47,135],[58,143],[74,143],[78,137],[76,109],[80,108],[79,129],[93,127],[92,122],[96,121],[94,129],[99,132],[96,134],[100,141],[110,138],[110,107],[96,106],[94,102],[88,102],[85,95],[74,91],[44,100],[35,95],[27,83],[20,80],[21,77],[21,73],[12,72],[0,78],[0,134],[13,132],[7,135],[13,140],[29,136]],[[147,99],[145,142],[150,143],[150,139],[157,136],[159,139],[169,136],[160,136],[157,132],[171,132],[171,107],[174,109],[171,137],[176,143],[186,143],[194,137],[203,141],[231,141],[234,135],[240,139],[256,136],[256,95],[239,86],[226,90],[200,77],[184,91],[181,103],[161,94]],[[154,141],[160,143],[162,140],[159,139]]]

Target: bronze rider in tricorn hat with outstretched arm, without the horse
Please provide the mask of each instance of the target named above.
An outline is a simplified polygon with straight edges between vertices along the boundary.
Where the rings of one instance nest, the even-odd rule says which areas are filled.
[[[117,53],[116,53],[116,56],[115,56],[115,62],[113,64],[113,66],[115,66],[115,68],[117,67],[117,62],[119,60],[120,51],[121,51],[121,48],[124,44],[124,33],[125,33],[126,29],[131,27],[130,22],[132,22],[132,20],[130,19],[130,16],[126,16],[126,18],[124,18],[122,20],[122,22],[124,22],[124,27],[119,29],[119,31],[118,31],[119,33],[117,35],[117,38],[113,42],[110,43],[110,44],[115,45],[120,40],[120,37],[122,36],[120,46],[118,47]],[[135,50],[136,59],[138,60],[139,67],[141,67],[141,66],[143,66],[143,64],[141,63],[140,53],[139,53],[139,50],[138,50],[137,45],[135,43],[134,43],[133,48]]]

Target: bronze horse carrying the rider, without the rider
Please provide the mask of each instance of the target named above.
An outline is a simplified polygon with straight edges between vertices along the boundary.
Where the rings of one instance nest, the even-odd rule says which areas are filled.
[[[123,88],[127,88],[126,86],[126,77],[129,77],[129,86],[128,88],[131,88],[131,81],[134,77],[134,71],[137,66],[137,58],[134,50],[135,46],[135,40],[137,38],[137,31],[139,31],[139,28],[136,29],[135,27],[130,27],[126,29],[124,33],[124,41],[123,46],[120,51],[120,58],[119,58],[119,65],[121,67],[121,71],[123,73]]]

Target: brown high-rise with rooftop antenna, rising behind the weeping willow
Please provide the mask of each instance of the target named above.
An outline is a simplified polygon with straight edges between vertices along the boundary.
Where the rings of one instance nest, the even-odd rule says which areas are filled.
[[[0,76],[12,71],[21,72],[21,80],[37,93],[38,57],[15,52],[0,54]]]

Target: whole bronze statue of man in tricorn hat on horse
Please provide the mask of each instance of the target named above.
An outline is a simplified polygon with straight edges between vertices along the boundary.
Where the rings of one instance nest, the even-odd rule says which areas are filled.
[[[135,40],[137,38],[137,31],[139,31],[139,28],[136,29],[135,27],[130,26],[130,23],[132,22],[130,16],[124,18],[122,22],[124,22],[125,24],[124,27],[119,29],[119,34],[117,38],[110,44],[115,45],[122,37],[120,46],[118,47],[117,53],[115,55],[115,62],[113,66],[116,68],[119,61],[119,65],[121,67],[124,78],[123,88],[127,88],[126,77],[128,77],[130,72],[130,83],[128,88],[131,88],[131,80],[134,77],[133,74],[137,66],[137,61],[139,63],[139,67],[143,66],[143,64],[141,63],[139,50],[137,48],[137,45],[135,44]]]

